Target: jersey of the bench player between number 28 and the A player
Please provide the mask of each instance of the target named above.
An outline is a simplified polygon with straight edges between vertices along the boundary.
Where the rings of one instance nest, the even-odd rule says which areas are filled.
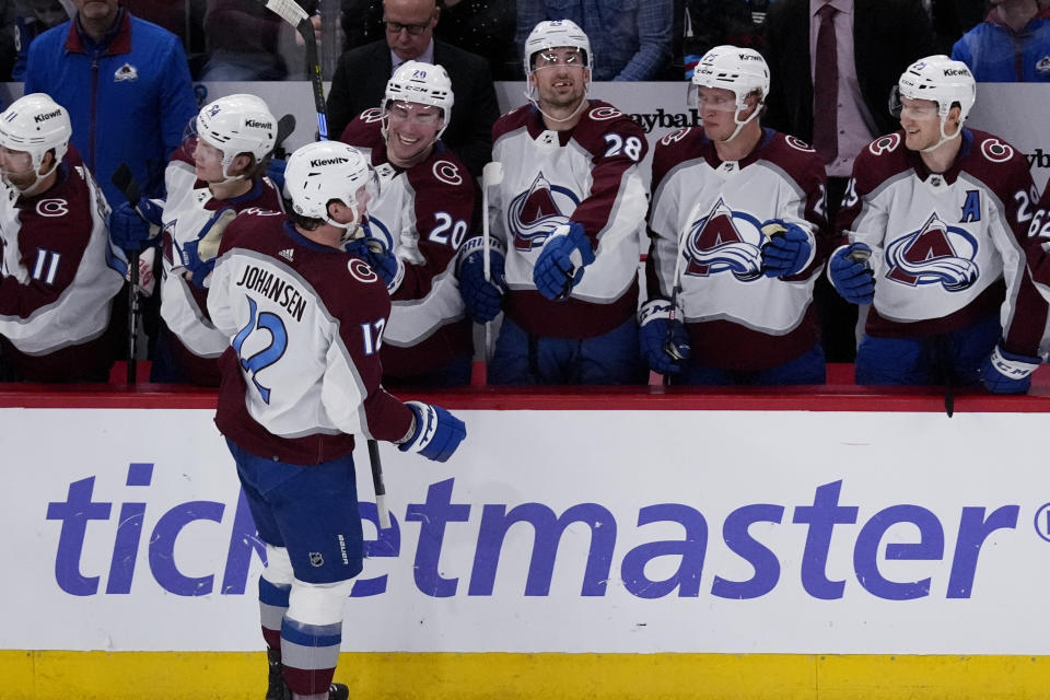
[[[649,291],[670,298],[678,275],[695,362],[761,370],[817,343],[813,288],[828,244],[824,170],[809,145],[771,129],[738,162],[719,160],[701,128],[657,143]],[[797,275],[762,275],[761,226],[770,219],[814,234],[817,245]]]

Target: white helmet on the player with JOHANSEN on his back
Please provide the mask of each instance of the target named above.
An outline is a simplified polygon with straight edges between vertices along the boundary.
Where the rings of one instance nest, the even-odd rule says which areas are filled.
[[[296,149],[288,158],[284,189],[292,198],[292,210],[311,219],[323,219],[340,229],[351,229],[358,219],[345,224],[328,217],[328,202],[341,201],[355,208],[359,192],[378,197],[375,171],[361,151],[339,141],[317,141]]]

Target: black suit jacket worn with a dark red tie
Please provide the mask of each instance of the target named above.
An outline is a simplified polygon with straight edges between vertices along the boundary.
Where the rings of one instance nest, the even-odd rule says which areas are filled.
[[[853,61],[861,96],[879,136],[899,125],[889,95],[911,63],[934,50],[930,18],[919,0],[854,0]],[[762,122],[813,142],[809,0],[778,0],[766,15],[762,49],[770,91]],[[833,108],[833,105],[828,105]]]

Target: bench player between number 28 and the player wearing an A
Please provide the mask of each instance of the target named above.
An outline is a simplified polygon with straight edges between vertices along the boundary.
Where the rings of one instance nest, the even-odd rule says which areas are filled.
[[[824,164],[760,126],[769,69],[757,51],[712,48],[690,90],[702,129],[668,135],[653,155],[642,352],[674,384],[822,384]]]

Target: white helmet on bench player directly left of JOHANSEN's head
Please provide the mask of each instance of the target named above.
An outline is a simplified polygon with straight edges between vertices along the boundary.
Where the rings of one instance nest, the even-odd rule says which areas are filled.
[[[277,119],[261,98],[236,94],[220,97],[200,108],[195,120],[197,136],[222,151],[222,175],[233,159],[250,153],[257,162],[273,150]]]

